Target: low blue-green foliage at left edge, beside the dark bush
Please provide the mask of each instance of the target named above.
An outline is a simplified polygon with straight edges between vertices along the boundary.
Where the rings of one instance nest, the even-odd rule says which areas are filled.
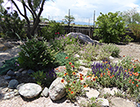
[[[3,66],[0,68],[0,75],[5,75],[8,70],[16,71],[19,69],[18,57],[11,58],[10,60],[5,60]]]

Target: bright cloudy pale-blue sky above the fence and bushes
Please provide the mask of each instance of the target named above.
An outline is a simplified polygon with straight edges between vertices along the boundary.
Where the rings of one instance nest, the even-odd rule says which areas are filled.
[[[5,3],[7,0],[4,0]],[[50,20],[62,20],[68,14],[75,17],[75,22],[82,21],[93,23],[93,13],[95,10],[95,19],[100,12],[127,11],[136,8],[140,12],[140,0],[51,0],[46,1],[42,16]],[[10,3],[5,6],[9,6]],[[19,6],[22,7],[20,3]]]

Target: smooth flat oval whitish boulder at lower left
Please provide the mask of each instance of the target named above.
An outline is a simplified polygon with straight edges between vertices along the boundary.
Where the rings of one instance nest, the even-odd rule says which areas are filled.
[[[19,87],[19,94],[25,98],[34,98],[42,91],[40,85],[35,83],[26,83]]]

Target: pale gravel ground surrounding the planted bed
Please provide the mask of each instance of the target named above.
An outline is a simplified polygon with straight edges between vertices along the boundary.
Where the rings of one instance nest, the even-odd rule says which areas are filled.
[[[128,45],[117,45],[121,52],[120,56],[133,56],[135,59],[140,59],[140,44],[129,43]],[[15,57],[18,55],[20,49],[18,47],[13,47],[6,51],[0,52],[0,66],[2,62],[6,59]],[[1,77],[0,77],[1,78]],[[1,92],[0,92],[1,93]],[[52,102],[50,98],[40,97],[33,101],[25,101],[20,96],[14,97],[9,100],[0,99],[0,107],[78,107],[72,103],[68,103],[67,100],[62,100],[59,102]]]

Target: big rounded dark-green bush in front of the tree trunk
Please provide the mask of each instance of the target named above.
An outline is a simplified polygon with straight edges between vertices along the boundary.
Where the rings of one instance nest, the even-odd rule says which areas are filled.
[[[36,38],[28,39],[21,45],[18,61],[25,69],[42,70],[55,67],[53,50],[46,41],[38,41]]]

